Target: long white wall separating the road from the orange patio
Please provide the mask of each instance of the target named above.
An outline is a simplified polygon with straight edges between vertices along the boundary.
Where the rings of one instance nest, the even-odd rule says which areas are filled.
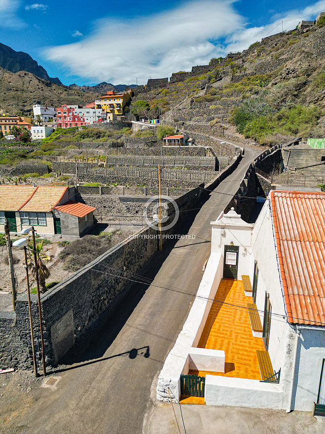
[[[189,371],[189,354],[196,347],[212,306],[223,274],[223,255],[213,253],[207,262],[203,278],[197,290],[190,314],[183,326],[176,343],[168,354],[157,384],[157,399],[169,400],[168,388],[172,399],[180,397],[180,376]],[[209,298],[210,300],[208,300]],[[199,349],[202,350],[202,349]],[[211,370],[211,369],[209,369]]]

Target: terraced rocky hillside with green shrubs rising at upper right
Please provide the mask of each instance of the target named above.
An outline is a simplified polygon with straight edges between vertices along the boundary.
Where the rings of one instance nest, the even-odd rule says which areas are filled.
[[[208,73],[138,94],[180,129],[243,143],[325,137],[325,27],[262,39]]]

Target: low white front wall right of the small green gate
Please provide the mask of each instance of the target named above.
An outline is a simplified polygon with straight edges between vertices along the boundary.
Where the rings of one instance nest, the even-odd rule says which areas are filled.
[[[206,405],[285,408],[281,387],[258,380],[206,375],[204,394]]]

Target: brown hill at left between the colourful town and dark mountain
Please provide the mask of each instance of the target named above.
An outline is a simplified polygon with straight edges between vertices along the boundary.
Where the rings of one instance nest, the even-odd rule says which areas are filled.
[[[82,92],[36,77],[30,72],[9,72],[0,68],[0,110],[30,115],[34,104],[59,107],[62,104],[84,106],[95,101],[101,92]]]

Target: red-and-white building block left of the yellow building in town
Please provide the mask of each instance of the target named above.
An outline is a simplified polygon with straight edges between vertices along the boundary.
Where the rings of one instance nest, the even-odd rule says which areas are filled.
[[[58,127],[69,128],[82,125],[92,125],[106,119],[106,113],[101,109],[80,106],[62,105],[57,109]]]

